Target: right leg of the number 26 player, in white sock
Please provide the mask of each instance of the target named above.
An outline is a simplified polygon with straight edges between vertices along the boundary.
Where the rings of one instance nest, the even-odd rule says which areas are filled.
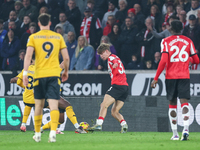
[[[187,99],[180,99],[181,102],[181,110],[182,110],[182,118],[183,118],[183,131],[181,141],[187,141],[189,139],[189,117],[190,117],[190,109]]]

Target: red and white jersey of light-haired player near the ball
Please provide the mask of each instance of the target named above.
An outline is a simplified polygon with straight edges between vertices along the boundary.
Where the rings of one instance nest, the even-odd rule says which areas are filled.
[[[113,68],[115,63],[117,63],[117,67]],[[119,57],[114,54],[111,54],[108,57],[108,72],[110,73],[111,85],[116,84],[128,86],[124,66]]]

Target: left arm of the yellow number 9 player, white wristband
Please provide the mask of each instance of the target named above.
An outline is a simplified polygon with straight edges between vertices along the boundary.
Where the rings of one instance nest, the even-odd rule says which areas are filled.
[[[26,55],[25,55],[25,58],[24,58],[24,72],[23,72],[23,83],[24,83],[24,86],[28,86],[27,73],[28,73],[28,67],[31,64],[33,51],[34,51],[34,48],[30,47],[30,46],[27,47],[27,49],[26,49]]]

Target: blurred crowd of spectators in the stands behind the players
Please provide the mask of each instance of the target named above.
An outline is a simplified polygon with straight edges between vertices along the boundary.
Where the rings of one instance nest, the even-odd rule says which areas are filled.
[[[173,20],[182,22],[182,34],[199,55],[199,0],[0,0],[1,71],[15,75],[23,69],[26,43],[39,31],[41,13],[51,15],[51,30],[63,36],[70,70],[107,70],[96,52],[100,43],[109,43],[127,70],[157,69],[160,42],[171,35]]]

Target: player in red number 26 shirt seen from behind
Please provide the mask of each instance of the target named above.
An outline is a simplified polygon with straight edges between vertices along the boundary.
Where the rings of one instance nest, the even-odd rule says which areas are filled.
[[[167,99],[169,100],[169,120],[173,131],[171,140],[179,140],[177,132],[177,97],[181,102],[183,117],[183,132],[181,140],[188,140],[189,136],[189,104],[190,99],[190,73],[189,62],[199,63],[199,58],[193,42],[181,35],[183,26],[178,20],[171,23],[172,36],[167,37],[161,42],[161,61],[159,63],[156,76],[151,83],[151,87],[155,88],[158,77],[166,68],[165,83],[167,91]]]

